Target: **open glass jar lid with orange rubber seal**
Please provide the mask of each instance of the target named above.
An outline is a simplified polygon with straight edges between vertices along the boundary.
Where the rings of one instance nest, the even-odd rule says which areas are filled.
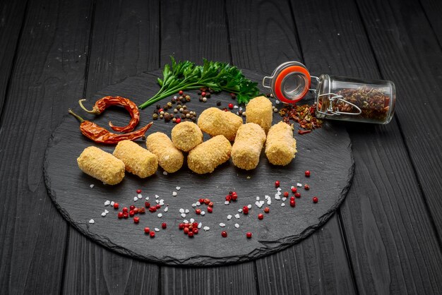
[[[309,91],[311,76],[304,64],[288,61],[280,64],[272,76],[263,78],[263,86],[270,88],[274,97],[282,102],[294,103]]]

